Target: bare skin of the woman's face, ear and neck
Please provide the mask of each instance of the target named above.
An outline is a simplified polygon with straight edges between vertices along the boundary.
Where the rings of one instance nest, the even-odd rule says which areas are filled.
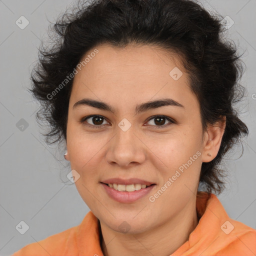
[[[98,53],[75,74],[69,100],[66,157],[80,175],[76,188],[100,220],[104,255],[169,255],[198,223],[195,202],[201,163],[216,156],[225,122],[203,132],[199,102],[177,55],[170,57],[165,50],[148,45],[96,48]],[[174,67],[183,73],[178,80],[169,75]],[[137,104],[166,97],[183,107],[167,105],[135,114]],[[83,98],[106,102],[116,112],[88,105],[73,107]],[[105,118],[101,127],[86,126],[86,121],[98,125],[92,118],[80,121],[91,114]],[[157,125],[155,115],[175,122],[165,119]],[[131,124],[125,132],[118,126],[123,118]],[[148,197],[197,151],[197,159],[150,202]],[[120,203],[100,184],[113,177],[136,177],[156,185],[137,201]],[[123,221],[130,227],[127,232],[118,228]]]

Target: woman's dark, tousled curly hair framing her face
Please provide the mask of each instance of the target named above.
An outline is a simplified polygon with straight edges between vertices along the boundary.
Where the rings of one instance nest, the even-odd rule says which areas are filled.
[[[88,50],[103,43],[159,46],[177,54],[188,71],[191,90],[200,103],[203,130],[226,117],[218,154],[202,163],[200,173],[200,184],[208,192],[221,192],[224,172],[220,161],[248,133],[233,108],[245,89],[237,82],[242,75],[240,56],[235,45],[220,38],[222,18],[192,0],[78,1],[77,8],[66,11],[50,26],[53,41],[47,47],[41,44],[39,61],[31,75],[30,90],[41,103],[37,121],[44,120],[50,127],[44,134],[46,142],[66,139],[73,81],[69,74]]]

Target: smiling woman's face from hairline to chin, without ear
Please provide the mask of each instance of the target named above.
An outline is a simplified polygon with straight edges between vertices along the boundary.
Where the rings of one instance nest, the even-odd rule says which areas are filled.
[[[68,109],[68,159],[74,176],[80,175],[75,185],[108,228],[150,230],[195,198],[205,155],[198,100],[179,59],[164,50],[100,45],[87,55]],[[164,99],[165,105],[147,103]],[[104,183],[142,188],[118,191]]]

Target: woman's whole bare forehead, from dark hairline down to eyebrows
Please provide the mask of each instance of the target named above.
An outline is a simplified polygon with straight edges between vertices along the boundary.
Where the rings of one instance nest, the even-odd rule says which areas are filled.
[[[97,53],[92,54],[95,49]],[[86,64],[74,77],[71,101],[91,97],[127,106],[154,97],[184,101],[194,96],[180,58],[164,49],[103,44],[87,51],[81,60],[86,57]]]

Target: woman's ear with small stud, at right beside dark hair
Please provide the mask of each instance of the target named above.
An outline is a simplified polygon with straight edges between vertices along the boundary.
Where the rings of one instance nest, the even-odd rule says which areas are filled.
[[[219,150],[225,131],[226,117],[223,116],[214,124],[209,124],[203,135],[202,162],[213,160]]]

